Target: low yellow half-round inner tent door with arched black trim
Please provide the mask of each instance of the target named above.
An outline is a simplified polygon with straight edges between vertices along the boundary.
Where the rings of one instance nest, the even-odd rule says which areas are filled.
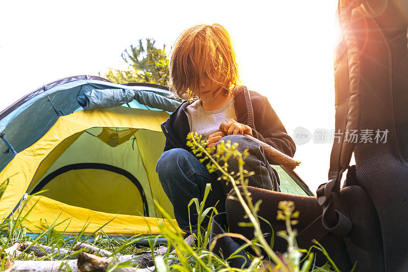
[[[130,172],[103,163],[77,163],[47,175],[31,193],[95,211],[149,216],[140,182]]]

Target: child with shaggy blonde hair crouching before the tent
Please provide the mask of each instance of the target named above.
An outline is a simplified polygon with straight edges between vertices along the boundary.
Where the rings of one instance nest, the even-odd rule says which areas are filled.
[[[264,141],[277,150],[292,156],[295,143],[286,133],[282,122],[267,98],[257,92],[238,86],[238,65],[228,32],[220,24],[200,24],[185,30],[177,38],[170,56],[170,86],[175,96],[183,102],[162,123],[166,136],[163,154],[156,171],[162,187],[174,208],[180,228],[189,230],[188,203],[197,198],[202,201],[207,183],[212,191],[206,206],[225,210],[225,196],[231,189],[217,181],[216,172],[210,174],[206,167],[190,153],[186,145],[189,132],[198,132],[208,145],[216,146],[220,140],[239,144],[242,152],[249,149],[244,168],[254,171],[249,186],[278,191],[277,172],[269,165],[263,147],[256,141],[239,135],[245,132]],[[225,130],[219,125],[227,120]],[[238,169],[235,159],[228,160],[228,170]],[[190,209],[191,225],[197,223],[195,207]]]

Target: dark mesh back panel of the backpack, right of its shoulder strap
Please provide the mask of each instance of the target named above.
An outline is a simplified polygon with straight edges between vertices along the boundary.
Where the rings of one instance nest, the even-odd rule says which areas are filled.
[[[396,271],[408,269],[408,233],[397,228],[408,224],[408,166],[399,157],[407,156],[408,61],[406,31],[382,28],[384,37],[376,24],[381,20],[386,26],[392,24],[389,13],[375,20],[361,16],[354,22],[357,31],[368,33],[355,33],[359,45],[366,44],[360,56],[360,131],[389,133],[386,143],[357,143],[354,155],[356,176],[378,213],[387,269]],[[366,41],[361,40],[364,36]]]

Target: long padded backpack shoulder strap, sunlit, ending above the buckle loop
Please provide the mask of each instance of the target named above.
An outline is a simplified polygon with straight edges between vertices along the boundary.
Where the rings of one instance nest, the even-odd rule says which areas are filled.
[[[360,52],[351,26],[350,18],[354,1],[340,0],[338,17],[343,39],[338,45],[335,63],[336,116],[335,131],[340,139],[334,140],[330,154],[328,180],[336,180],[336,191],[347,169],[355,143],[347,139],[347,132],[359,129],[360,114]]]

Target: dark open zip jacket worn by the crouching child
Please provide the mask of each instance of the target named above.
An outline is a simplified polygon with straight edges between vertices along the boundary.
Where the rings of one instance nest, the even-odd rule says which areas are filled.
[[[186,114],[186,108],[189,104],[187,101],[183,102],[161,124],[163,133],[166,136],[164,151],[182,148],[191,152],[190,147],[186,145],[186,137],[190,132]],[[245,86],[239,86],[234,90],[234,107],[237,121],[251,127],[253,137],[293,157],[296,151],[295,143],[287,134],[281,120],[279,120],[265,96],[254,91],[248,91]],[[271,160],[269,162],[277,164]]]

